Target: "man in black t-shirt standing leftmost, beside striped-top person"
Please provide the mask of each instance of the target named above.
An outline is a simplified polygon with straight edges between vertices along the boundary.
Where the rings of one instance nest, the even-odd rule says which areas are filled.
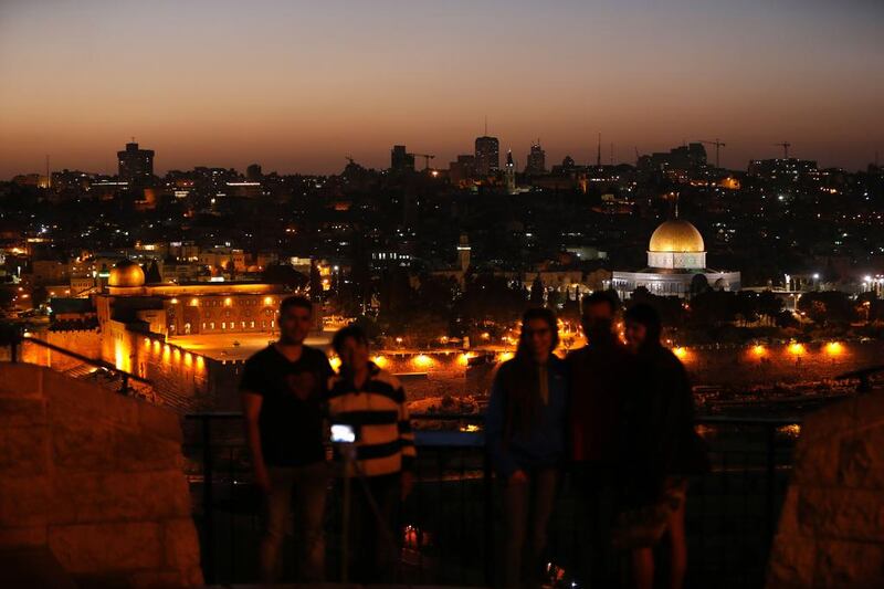
[[[295,495],[298,580],[325,577],[323,516],[328,465],[323,446],[323,410],[334,374],[322,351],[304,345],[313,305],[301,296],[280,305],[280,339],[245,362],[240,383],[255,484],[266,498],[261,543],[262,581],[274,582]]]

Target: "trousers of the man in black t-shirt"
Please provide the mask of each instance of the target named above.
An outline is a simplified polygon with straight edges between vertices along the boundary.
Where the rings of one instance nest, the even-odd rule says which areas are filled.
[[[290,529],[294,511],[297,547],[297,580],[317,582],[325,579],[325,516],[328,488],[328,464],[306,466],[269,466],[271,493],[266,497],[266,524],[261,541],[262,582],[276,582],[282,570],[280,548]],[[294,509],[293,509],[294,506]]]

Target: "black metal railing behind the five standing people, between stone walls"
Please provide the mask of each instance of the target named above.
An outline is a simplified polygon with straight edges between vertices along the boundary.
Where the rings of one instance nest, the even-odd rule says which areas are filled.
[[[403,505],[402,561],[413,582],[493,585],[502,536],[499,490],[484,451],[480,414],[415,414],[415,485]],[[251,485],[239,413],[200,413],[185,421],[188,473],[201,533],[207,582],[256,577],[260,497]],[[686,526],[688,587],[764,585],[799,419],[705,417],[698,429],[713,460],[691,481]],[[334,483],[333,483],[333,486]],[[329,570],[338,570],[338,499],[327,514]],[[565,473],[550,522],[550,571],[582,585],[587,549],[580,492]],[[288,549],[293,549],[290,546]],[[286,559],[292,566],[294,558]],[[288,570],[292,574],[292,570]]]

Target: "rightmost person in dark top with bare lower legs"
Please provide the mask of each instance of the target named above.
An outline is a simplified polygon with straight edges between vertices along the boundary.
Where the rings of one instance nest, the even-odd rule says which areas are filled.
[[[618,546],[632,551],[638,589],[654,585],[654,546],[669,536],[669,587],[681,589],[687,564],[684,512],[687,475],[708,470],[705,444],[694,430],[694,397],[681,360],[660,343],[660,315],[639,304],[624,316],[635,354],[639,386],[623,404],[622,509]]]

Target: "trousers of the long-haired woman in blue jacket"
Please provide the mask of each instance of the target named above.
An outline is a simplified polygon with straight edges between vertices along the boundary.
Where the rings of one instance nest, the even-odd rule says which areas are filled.
[[[539,587],[543,572],[543,553],[546,548],[547,526],[556,503],[559,473],[556,469],[527,471],[527,483],[504,482],[506,511],[506,540],[504,545],[503,581],[507,589]],[[522,554],[528,541],[528,571],[523,574]]]

